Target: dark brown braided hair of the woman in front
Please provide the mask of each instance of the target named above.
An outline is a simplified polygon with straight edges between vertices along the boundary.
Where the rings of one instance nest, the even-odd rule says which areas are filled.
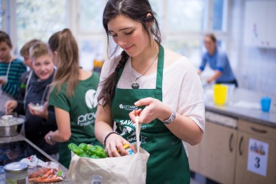
[[[150,40],[153,35],[155,41],[157,41],[157,43],[161,43],[159,25],[155,17],[155,12],[152,11],[148,0],[109,0],[103,10],[103,28],[106,30],[107,36],[110,36],[108,32],[108,22],[120,14],[124,14],[130,19],[141,23],[143,29],[148,34],[148,39]],[[150,14],[150,16],[147,16],[148,14]],[[150,30],[148,29],[149,23],[152,23]],[[109,37],[108,43],[110,43]],[[149,44],[151,44],[151,41]],[[118,45],[116,46],[116,50],[117,48]],[[116,53],[116,50],[111,54],[111,56]],[[112,72],[112,74],[100,83],[102,90],[99,93],[98,101],[102,100],[101,105],[103,105],[103,107],[106,105],[111,106],[115,93],[118,72],[126,63],[128,57],[129,56],[125,51],[121,52],[121,60],[116,66],[115,72]]]

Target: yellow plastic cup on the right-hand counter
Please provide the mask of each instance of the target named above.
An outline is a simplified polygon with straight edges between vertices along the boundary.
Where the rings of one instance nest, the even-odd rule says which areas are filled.
[[[215,84],[213,85],[214,90],[214,103],[217,105],[224,105],[226,103],[227,96],[227,85]]]

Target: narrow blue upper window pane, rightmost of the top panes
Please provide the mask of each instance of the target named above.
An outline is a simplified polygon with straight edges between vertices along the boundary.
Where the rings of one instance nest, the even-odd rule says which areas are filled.
[[[224,0],[213,0],[213,30],[223,30]]]

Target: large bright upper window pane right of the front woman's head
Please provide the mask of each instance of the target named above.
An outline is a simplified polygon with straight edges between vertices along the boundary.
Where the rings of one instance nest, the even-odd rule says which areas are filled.
[[[204,28],[204,0],[167,1],[168,20],[166,30],[201,31]]]

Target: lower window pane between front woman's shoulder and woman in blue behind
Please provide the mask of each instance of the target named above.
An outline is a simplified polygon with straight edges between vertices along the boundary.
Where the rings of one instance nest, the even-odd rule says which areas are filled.
[[[166,47],[185,57],[188,57],[195,66],[201,61],[201,40],[195,39],[169,39]]]

